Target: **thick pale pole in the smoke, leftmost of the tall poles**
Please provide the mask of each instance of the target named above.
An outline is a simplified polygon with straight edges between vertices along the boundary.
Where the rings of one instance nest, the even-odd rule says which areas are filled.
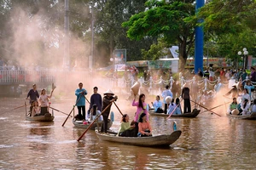
[[[68,0],[65,0],[65,17],[64,17],[64,58],[63,58],[63,67],[69,69],[70,59],[69,59],[69,6]]]

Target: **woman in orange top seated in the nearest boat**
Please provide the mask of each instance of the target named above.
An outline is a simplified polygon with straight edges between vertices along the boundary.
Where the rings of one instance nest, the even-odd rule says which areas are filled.
[[[142,113],[138,123],[138,133],[137,136],[147,137],[152,136],[152,128],[147,121],[147,116],[145,113]]]

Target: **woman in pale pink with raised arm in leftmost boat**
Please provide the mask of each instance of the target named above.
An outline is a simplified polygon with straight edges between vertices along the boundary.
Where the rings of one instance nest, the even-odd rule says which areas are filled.
[[[41,114],[44,115],[45,113],[49,113],[49,99],[52,96],[52,93],[54,91],[54,88],[51,90],[50,94],[46,94],[45,89],[41,91],[41,94],[39,96],[39,105],[41,107]]]

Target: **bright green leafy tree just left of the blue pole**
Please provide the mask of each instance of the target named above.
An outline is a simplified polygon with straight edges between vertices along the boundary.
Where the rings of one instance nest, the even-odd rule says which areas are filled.
[[[132,40],[161,37],[166,44],[178,44],[180,68],[183,69],[195,41],[194,1],[149,0],[147,10],[123,23]]]

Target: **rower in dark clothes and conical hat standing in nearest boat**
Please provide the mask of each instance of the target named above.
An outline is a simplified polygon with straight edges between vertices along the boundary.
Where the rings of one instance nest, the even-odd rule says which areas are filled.
[[[108,107],[107,110],[102,112],[102,116],[103,116],[103,123],[102,123],[102,130],[101,130],[102,133],[103,132],[107,133],[107,130],[108,130],[108,116],[109,116],[109,113],[110,113],[111,105],[114,101],[116,101],[118,99],[117,96],[113,97],[113,95],[114,94],[110,89],[108,89],[108,91],[104,93],[102,111],[104,111],[105,108],[108,107],[108,105],[110,105],[110,106]]]

